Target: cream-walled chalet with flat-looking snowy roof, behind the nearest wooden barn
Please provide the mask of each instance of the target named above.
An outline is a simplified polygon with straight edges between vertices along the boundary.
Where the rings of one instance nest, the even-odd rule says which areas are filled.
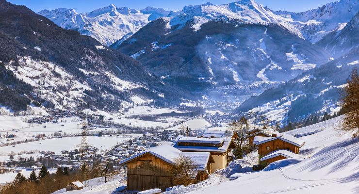
[[[226,168],[228,163],[233,160],[233,156],[228,154],[236,148],[236,144],[231,137],[207,138],[179,135],[174,141],[173,147],[182,152],[210,152],[214,159],[211,169],[211,173],[213,173],[216,170]]]

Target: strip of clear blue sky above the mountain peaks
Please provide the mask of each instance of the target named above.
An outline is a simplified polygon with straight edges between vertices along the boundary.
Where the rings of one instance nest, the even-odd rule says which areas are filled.
[[[90,12],[95,9],[114,4],[118,7],[143,9],[146,6],[162,7],[165,10],[177,11],[185,5],[197,5],[207,1],[213,4],[223,4],[235,0],[8,0],[14,4],[26,5],[35,12],[43,9],[57,9],[60,7],[73,8],[77,12]],[[256,0],[272,10],[286,10],[302,12],[320,7],[335,0]]]

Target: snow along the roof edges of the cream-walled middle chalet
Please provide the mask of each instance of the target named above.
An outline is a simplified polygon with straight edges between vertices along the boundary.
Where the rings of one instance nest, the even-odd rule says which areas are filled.
[[[227,152],[228,147],[230,145],[230,143],[232,142],[232,138],[231,137],[225,137],[225,138],[220,138],[220,139],[224,139],[224,143],[222,147],[214,147],[214,146],[179,146],[178,140],[183,137],[181,135],[179,135],[176,140],[174,141],[174,143],[172,144],[173,147],[176,147],[177,149],[181,150],[181,151],[205,151],[205,152]],[[203,138],[203,139],[207,139],[207,138]],[[214,138],[211,138],[214,139]]]

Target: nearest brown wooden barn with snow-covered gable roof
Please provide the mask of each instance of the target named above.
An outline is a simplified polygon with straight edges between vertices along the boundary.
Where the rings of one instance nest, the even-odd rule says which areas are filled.
[[[197,180],[208,178],[213,158],[208,152],[181,152],[178,149],[162,145],[133,155],[119,162],[127,166],[127,188],[130,191],[144,191],[159,188],[164,191],[174,186],[174,175],[171,171],[180,155],[190,156],[197,164]]]

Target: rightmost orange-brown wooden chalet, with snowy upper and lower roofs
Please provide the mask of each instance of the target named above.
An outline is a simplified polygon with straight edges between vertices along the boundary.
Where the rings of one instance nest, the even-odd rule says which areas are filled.
[[[259,164],[266,166],[278,160],[300,157],[299,148],[304,141],[288,134],[273,134],[272,137],[255,136],[253,144],[258,146]]]

